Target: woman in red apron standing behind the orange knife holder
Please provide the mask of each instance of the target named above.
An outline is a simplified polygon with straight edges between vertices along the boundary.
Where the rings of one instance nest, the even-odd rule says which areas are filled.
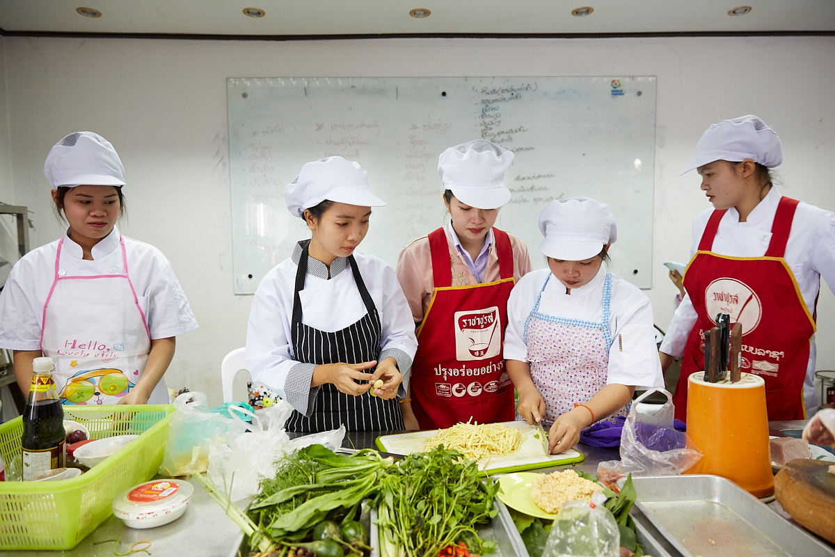
[[[661,362],[684,356],[674,401],[685,419],[687,378],[704,369],[704,332],[720,313],[742,325],[742,371],[766,381],[768,419],[817,409],[815,315],[820,278],[835,285],[835,215],[789,199],[769,169],[782,163],[780,138],[757,116],[713,124],[682,174],[696,169],[713,205],[693,221],[692,259],[661,343]]]

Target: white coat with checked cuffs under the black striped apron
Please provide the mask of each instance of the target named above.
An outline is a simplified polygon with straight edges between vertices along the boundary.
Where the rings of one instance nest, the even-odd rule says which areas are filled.
[[[258,285],[246,328],[246,362],[253,382],[275,391],[305,415],[311,411],[319,387],[311,389],[316,364],[297,362],[292,352],[291,319],[301,247],[281,261]],[[397,360],[403,376],[398,396],[406,394],[409,370],[417,352],[414,320],[394,269],[379,257],[354,253],[362,281],[374,301],[382,326],[380,356]],[[299,291],[301,322],[324,332],[337,332],[367,314],[347,258],[324,263],[309,257],[305,288]],[[360,362],[350,362],[360,363]]]

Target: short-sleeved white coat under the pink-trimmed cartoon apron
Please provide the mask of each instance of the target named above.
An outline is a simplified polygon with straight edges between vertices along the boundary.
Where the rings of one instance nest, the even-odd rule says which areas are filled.
[[[170,262],[154,246],[122,237],[130,281],[148,321],[151,338],[176,337],[195,330],[197,320]],[[115,226],[91,252],[93,261],[83,260],[82,247],[64,235],[59,272],[65,271],[67,276],[123,272],[119,230]],[[0,293],[0,347],[40,350],[43,305],[55,278],[57,253],[58,240],[30,251],[15,263]]]

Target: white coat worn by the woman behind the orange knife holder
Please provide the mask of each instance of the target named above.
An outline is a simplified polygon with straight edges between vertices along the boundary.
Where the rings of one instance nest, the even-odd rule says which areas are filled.
[[[772,186],[766,197],[748,215],[746,222],[739,221],[739,212],[735,208],[728,209],[719,221],[712,251],[721,256],[731,257],[765,256],[768,244],[772,240],[772,223],[781,197],[777,188]],[[713,209],[707,209],[693,221],[691,259],[699,249],[701,235],[712,213]],[[803,301],[806,302],[809,311],[814,312],[817,293],[820,291],[820,277],[823,276],[830,289],[835,287],[835,215],[831,211],[801,201],[792,220],[792,231],[789,233],[783,258],[794,273]],[[696,317],[696,310],[688,293],[673,316],[670,329],[661,343],[661,352],[681,357],[687,337],[696,324]],[[803,385],[803,397],[809,415],[817,410],[814,386],[815,355],[815,337],[812,337],[806,382]]]

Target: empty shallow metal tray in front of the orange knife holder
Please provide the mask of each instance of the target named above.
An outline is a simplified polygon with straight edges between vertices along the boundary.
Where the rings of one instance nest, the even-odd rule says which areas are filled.
[[[671,557],[835,555],[835,549],[728,479],[693,474],[633,477],[632,482],[638,496],[635,523]]]

